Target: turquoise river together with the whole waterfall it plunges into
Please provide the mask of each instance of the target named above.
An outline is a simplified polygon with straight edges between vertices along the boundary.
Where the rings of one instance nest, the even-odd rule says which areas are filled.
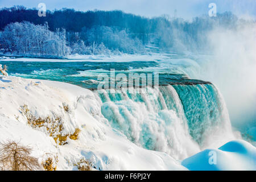
[[[94,90],[101,113],[109,124],[131,142],[149,150],[184,159],[204,148],[217,148],[234,139],[229,114],[220,92],[208,81],[189,78],[188,75],[199,69],[199,65],[190,59],[143,63],[88,62],[86,65],[82,62],[8,63],[10,75],[17,76],[19,73],[18,76],[26,78],[70,82]],[[18,64],[26,69],[18,69]],[[104,82],[112,82],[111,68],[117,69],[116,76],[124,73],[125,78],[130,73],[146,75],[159,72],[161,86],[147,86],[145,93],[132,94],[129,90],[115,90],[114,93],[102,90],[103,93],[98,93],[101,80],[97,76],[101,73],[110,75],[110,80]],[[118,85],[119,82],[129,83],[129,79],[115,80],[114,84]],[[150,84],[146,82],[146,85]]]

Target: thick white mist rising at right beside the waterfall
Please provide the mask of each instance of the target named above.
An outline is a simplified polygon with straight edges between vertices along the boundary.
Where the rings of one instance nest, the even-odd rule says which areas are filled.
[[[256,24],[216,27],[208,34],[213,56],[201,60],[201,76],[224,95],[235,127],[256,125]]]

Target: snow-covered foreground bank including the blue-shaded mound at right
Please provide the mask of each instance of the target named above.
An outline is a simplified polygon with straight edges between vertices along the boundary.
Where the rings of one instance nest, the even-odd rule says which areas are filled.
[[[45,127],[28,124],[22,112],[24,105],[36,118],[59,116],[63,122],[61,134],[70,136],[79,129],[78,138],[67,138],[67,143],[59,145]],[[46,154],[56,157],[57,170],[76,170],[81,159],[88,160],[96,170],[256,169],[256,148],[242,140],[183,161],[138,147],[110,127],[92,91],[56,81],[20,77],[0,80],[0,142],[7,139],[31,146],[32,155],[42,162]],[[216,164],[209,164],[210,151],[216,152]]]

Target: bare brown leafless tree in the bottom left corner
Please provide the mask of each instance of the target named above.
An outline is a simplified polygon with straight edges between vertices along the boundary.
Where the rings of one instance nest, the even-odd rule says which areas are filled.
[[[38,159],[30,156],[32,148],[19,142],[0,143],[0,166],[2,170],[34,171],[41,170]]]

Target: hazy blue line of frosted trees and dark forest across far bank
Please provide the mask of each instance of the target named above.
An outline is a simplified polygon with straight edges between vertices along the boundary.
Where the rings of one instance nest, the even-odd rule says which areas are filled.
[[[163,51],[200,51],[214,27],[236,28],[232,13],[202,15],[187,21],[155,18],[123,11],[47,11],[14,6],[0,10],[0,48],[18,55],[144,53],[146,46]]]

